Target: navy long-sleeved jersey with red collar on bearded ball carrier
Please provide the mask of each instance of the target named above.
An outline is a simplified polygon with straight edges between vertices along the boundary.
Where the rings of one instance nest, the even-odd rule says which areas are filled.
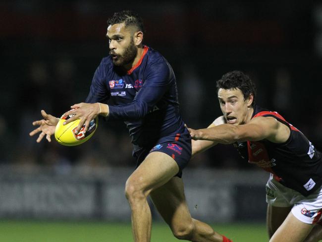
[[[113,65],[110,56],[102,60],[86,102],[107,101],[108,119],[126,123],[133,152],[152,148],[161,137],[185,130],[173,70],[160,53],[147,46],[128,71]]]

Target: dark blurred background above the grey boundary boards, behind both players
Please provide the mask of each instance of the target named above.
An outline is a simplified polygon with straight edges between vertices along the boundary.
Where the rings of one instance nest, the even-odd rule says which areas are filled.
[[[180,110],[193,128],[221,112],[215,81],[243,70],[258,88],[257,103],[279,112],[322,151],[322,3],[293,0],[228,1],[0,1],[0,164],[133,166],[121,122],[100,121],[78,147],[29,137],[40,110],[60,117],[83,102],[93,74],[108,55],[107,19],[132,9],[144,19],[144,43],[172,65]],[[200,154],[190,167],[255,169],[231,146]]]

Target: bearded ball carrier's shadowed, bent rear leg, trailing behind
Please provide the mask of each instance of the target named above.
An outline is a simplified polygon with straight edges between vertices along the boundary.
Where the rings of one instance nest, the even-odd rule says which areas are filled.
[[[207,224],[191,218],[182,179],[173,177],[150,194],[156,208],[177,239],[192,242],[222,242],[222,236]]]

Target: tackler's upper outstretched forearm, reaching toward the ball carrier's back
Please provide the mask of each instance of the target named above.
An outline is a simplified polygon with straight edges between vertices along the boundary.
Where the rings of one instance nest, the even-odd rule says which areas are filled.
[[[239,135],[235,125],[220,124],[215,127],[196,130],[194,139],[210,140],[220,144],[232,144],[239,141]]]

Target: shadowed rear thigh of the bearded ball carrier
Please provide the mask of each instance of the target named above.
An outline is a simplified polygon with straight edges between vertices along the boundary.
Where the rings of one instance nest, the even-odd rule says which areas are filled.
[[[176,226],[192,225],[192,218],[184,195],[182,179],[173,177],[151,192],[150,197],[171,230]]]

